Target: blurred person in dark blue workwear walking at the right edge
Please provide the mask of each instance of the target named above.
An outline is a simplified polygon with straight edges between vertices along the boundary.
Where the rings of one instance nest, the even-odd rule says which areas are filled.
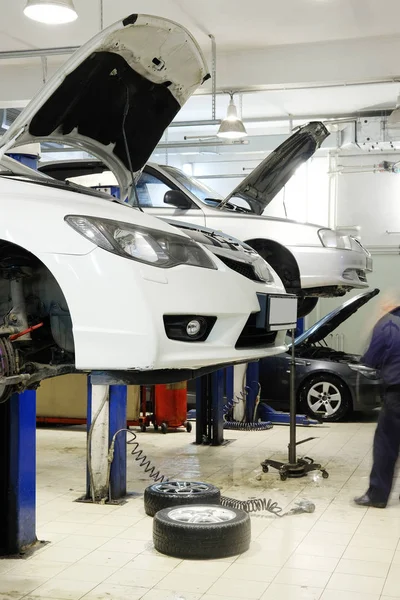
[[[400,303],[375,325],[361,362],[380,369],[383,407],[374,437],[373,466],[368,491],[355,498],[360,506],[386,508],[400,451]],[[392,304],[393,306],[393,304]]]

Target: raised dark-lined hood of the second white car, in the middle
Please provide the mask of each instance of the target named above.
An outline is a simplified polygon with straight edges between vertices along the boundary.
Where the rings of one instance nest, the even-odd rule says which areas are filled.
[[[219,208],[233,197],[243,198],[252,212],[261,215],[265,207],[287,184],[295,171],[318,150],[329,131],[319,121],[298,129],[271,152],[234,190]]]

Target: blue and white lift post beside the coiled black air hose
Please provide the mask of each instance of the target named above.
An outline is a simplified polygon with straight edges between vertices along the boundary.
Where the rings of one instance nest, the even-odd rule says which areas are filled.
[[[86,502],[104,499],[118,502],[126,496],[127,388],[125,385],[109,385],[102,381],[96,373],[88,377],[87,483],[83,499]],[[114,453],[110,457],[113,439]],[[112,463],[108,477],[110,459]]]

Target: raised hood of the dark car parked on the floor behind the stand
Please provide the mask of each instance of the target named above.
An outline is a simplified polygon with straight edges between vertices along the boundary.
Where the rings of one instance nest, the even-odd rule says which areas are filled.
[[[332,333],[339,325],[344,323],[351,315],[354,315],[359,308],[364,306],[372,298],[379,294],[378,289],[368,290],[347,300],[342,306],[338,306],[332,312],[325,315],[315,325],[298,336],[295,340],[295,346],[300,344],[316,344],[321,342],[327,335]]]

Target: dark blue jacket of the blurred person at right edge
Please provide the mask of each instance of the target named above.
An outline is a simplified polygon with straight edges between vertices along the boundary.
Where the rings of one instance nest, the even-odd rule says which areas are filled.
[[[386,386],[400,385],[400,306],[375,325],[369,348],[360,362],[380,369]]]

